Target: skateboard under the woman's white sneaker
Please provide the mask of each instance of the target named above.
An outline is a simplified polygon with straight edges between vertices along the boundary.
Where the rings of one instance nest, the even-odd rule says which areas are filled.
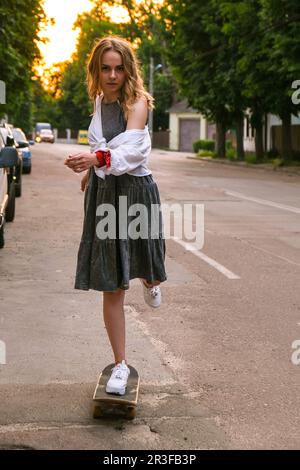
[[[122,415],[126,419],[134,419],[139,395],[140,378],[137,370],[128,366],[130,375],[128,377],[125,395],[115,395],[105,391],[107,381],[115,364],[109,364],[99,376],[98,383],[93,396],[93,418],[98,419],[105,415]]]

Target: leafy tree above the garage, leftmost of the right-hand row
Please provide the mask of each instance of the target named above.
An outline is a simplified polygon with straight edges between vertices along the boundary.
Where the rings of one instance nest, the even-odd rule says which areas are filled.
[[[216,150],[223,158],[226,130],[234,121],[240,122],[243,103],[235,56],[222,32],[224,21],[218,3],[171,0],[163,7],[162,18],[166,55],[180,91],[193,108],[216,122]],[[243,148],[239,150],[242,155]]]

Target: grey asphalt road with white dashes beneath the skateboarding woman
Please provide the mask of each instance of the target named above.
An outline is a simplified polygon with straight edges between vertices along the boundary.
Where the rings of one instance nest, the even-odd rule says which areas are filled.
[[[204,204],[204,245],[167,241],[160,309],[131,281],[138,415],[95,422],[93,390],[112,356],[102,294],[73,289],[83,194],[63,165],[83,148],[35,145],[6,225],[0,447],[300,448],[300,176],[153,151],[162,202]]]

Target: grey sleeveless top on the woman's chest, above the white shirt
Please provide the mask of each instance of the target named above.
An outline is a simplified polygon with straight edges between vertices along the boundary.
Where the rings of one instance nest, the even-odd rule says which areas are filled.
[[[118,101],[113,103],[101,103],[101,119],[102,119],[102,131],[103,137],[106,142],[126,131],[127,122],[123,113],[123,109]],[[148,124],[149,113],[147,117]]]

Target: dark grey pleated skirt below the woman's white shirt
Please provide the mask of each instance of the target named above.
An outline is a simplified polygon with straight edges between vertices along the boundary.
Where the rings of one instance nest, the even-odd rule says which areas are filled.
[[[128,211],[124,211],[120,196],[126,196],[121,199],[123,202],[126,200],[127,208],[134,204],[143,204],[148,209],[145,216],[148,227],[146,237],[124,237],[123,222],[125,220],[128,229],[133,217],[128,215]],[[99,237],[97,230],[97,224],[101,224],[107,217],[104,210],[107,206],[104,204],[115,209],[116,230],[113,237]],[[95,174],[93,168],[90,169],[84,196],[84,222],[77,256],[75,289],[127,290],[129,281],[134,278],[144,278],[149,283],[167,279],[162,215],[159,211],[158,223],[157,217],[151,218],[152,205],[160,207],[159,191],[152,175],[107,175],[103,180]],[[120,211],[122,232],[119,224]]]

